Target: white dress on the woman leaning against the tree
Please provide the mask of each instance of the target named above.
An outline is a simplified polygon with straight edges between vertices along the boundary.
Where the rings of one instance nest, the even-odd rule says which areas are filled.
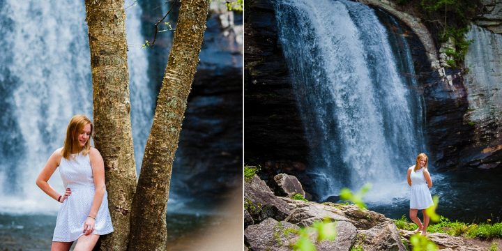
[[[61,158],[59,174],[63,185],[70,188],[71,195],[63,202],[56,220],[52,241],[71,242],[84,235],[84,222],[91,211],[96,187],[89,154],[72,154],[74,160]],[[71,158],[70,158],[71,159]],[[114,231],[108,211],[108,195],[105,191],[96,215],[96,225],[91,234],[109,234]]]

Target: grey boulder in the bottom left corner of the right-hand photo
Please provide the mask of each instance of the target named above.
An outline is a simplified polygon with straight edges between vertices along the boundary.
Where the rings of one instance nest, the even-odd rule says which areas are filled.
[[[289,222],[277,222],[273,218],[267,218],[259,225],[252,225],[245,229],[244,239],[251,250],[291,250],[289,243],[292,233],[286,229],[300,229]]]

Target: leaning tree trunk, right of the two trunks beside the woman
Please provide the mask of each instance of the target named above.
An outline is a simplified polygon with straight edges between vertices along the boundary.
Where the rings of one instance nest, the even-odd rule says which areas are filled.
[[[201,50],[208,1],[183,0],[132,202],[129,250],[166,250],[174,153]]]

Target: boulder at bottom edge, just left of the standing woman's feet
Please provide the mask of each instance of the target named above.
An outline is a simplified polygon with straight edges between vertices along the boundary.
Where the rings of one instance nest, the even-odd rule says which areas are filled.
[[[371,229],[360,231],[358,233],[358,245],[361,245],[363,250],[406,251],[401,242],[400,232],[392,220],[381,222]]]

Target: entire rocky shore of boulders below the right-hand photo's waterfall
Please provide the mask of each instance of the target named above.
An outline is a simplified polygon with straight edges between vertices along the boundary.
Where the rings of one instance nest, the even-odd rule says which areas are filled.
[[[400,230],[385,215],[354,205],[291,199],[304,195],[296,177],[278,174],[275,189],[254,175],[244,185],[245,250],[293,250],[299,236],[291,229],[310,227],[328,219],[336,224],[334,241],[316,243],[317,250],[411,250],[412,231]],[[277,195],[284,195],[277,196]],[[430,241],[441,250],[487,250],[487,244],[473,239],[429,233]]]

